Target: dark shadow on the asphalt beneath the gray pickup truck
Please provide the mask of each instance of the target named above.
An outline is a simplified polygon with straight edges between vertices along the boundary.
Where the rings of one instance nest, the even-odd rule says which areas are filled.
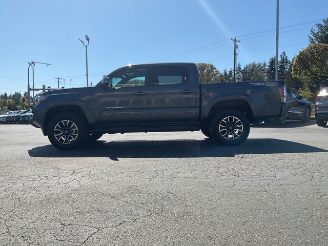
[[[51,145],[28,151],[31,157],[108,157],[118,158],[191,158],[234,157],[242,154],[317,153],[328,152],[298,142],[273,138],[247,139],[236,147],[220,146],[212,139],[96,141],[80,149],[63,151]]]

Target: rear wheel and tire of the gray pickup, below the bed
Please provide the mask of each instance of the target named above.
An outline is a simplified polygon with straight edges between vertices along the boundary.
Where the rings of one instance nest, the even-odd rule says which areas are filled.
[[[223,145],[241,145],[250,134],[250,122],[240,111],[227,109],[218,112],[211,120],[211,135]]]

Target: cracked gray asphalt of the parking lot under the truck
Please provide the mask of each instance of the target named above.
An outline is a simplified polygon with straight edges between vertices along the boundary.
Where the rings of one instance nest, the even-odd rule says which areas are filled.
[[[328,128],[104,135],[60,151],[0,126],[1,245],[328,245]]]

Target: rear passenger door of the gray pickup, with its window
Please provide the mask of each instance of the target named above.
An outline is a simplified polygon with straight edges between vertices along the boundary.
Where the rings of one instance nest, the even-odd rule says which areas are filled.
[[[149,67],[149,119],[151,122],[194,121],[196,82],[184,65]]]

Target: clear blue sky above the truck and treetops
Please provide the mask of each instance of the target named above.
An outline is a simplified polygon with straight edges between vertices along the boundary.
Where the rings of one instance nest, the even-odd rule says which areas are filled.
[[[328,0],[280,0],[279,53],[292,58],[327,16]],[[234,36],[241,40],[241,65],[268,60],[275,54],[275,25],[276,0],[0,0],[0,90],[26,91],[31,60],[51,64],[35,66],[35,87],[56,87],[57,76],[65,87],[70,79],[73,87],[85,86],[85,50],[78,40],[85,34],[89,83],[96,84],[127,64],[188,61],[229,69]]]

